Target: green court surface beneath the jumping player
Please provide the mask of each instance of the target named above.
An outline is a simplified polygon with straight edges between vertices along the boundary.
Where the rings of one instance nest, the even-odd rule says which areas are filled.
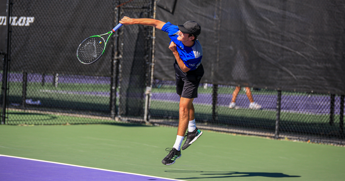
[[[2,125],[0,132],[3,155],[171,179],[317,181],[345,176],[345,148],[331,145],[204,130],[201,139],[167,166],[161,160],[165,148],[172,147],[176,128],[128,123]]]

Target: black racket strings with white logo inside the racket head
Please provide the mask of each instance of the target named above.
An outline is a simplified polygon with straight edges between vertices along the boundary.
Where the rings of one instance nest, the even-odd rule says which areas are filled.
[[[100,37],[90,37],[85,40],[78,49],[78,57],[82,62],[96,61],[103,52],[104,40]]]

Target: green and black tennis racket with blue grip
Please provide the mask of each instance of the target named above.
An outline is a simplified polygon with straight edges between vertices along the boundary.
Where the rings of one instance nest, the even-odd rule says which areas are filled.
[[[104,50],[107,47],[107,42],[111,37],[112,33],[118,30],[122,26],[121,23],[116,25],[114,29],[106,34],[100,34],[96,36],[89,37],[80,43],[77,49],[78,60],[83,64],[91,64],[96,62],[102,57]],[[110,34],[109,34],[110,33]],[[107,41],[102,36],[109,34]]]

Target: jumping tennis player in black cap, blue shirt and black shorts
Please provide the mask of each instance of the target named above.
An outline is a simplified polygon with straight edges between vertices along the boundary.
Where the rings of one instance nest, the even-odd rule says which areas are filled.
[[[198,87],[204,68],[201,64],[203,49],[197,37],[201,32],[200,25],[195,21],[187,21],[183,25],[174,25],[155,19],[134,19],[123,17],[121,24],[142,24],[152,26],[168,33],[171,39],[169,49],[175,56],[176,92],[180,96],[179,123],[174,146],[166,151],[169,154],[162,160],[163,164],[171,165],[181,157],[181,149],[189,147],[203,134],[196,128],[193,100],[198,97]],[[188,128],[188,132],[186,133]],[[186,141],[181,148],[182,141]]]

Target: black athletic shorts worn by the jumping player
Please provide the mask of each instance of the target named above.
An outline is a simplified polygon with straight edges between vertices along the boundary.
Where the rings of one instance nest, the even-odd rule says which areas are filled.
[[[197,98],[199,83],[204,75],[203,65],[200,63],[197,69],[183,72],[175,60],[174,68],[176,72],[176,93],[183,98]]]

